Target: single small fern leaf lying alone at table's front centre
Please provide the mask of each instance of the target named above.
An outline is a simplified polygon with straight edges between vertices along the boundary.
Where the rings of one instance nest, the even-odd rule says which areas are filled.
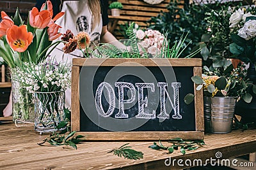
[[[118,149],[114,149],[109,151],[108,153],[113,152],[114,155],[118,155],[118,157],[124,157],[125,159],[143,159],[143,153],[140,151],[136,151],[131,149],[131,146],[127,146],[129,143],[126,143],[125,145],[120,146]]]

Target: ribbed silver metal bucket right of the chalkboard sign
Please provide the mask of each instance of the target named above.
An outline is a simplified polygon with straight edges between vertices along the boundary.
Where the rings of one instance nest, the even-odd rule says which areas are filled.
[[[235,105],[234,97],[204,97],[205,132],[231,132]]]

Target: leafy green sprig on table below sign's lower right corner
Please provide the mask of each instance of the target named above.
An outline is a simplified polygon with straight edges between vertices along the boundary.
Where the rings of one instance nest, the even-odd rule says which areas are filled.
[[[197,150],[200,146],[205,145],[204,140],[184,140],[181,138],[170,139],[168,142],[173,145],[167,147],[163,146],[159,139],[159,145],[154,142],[154,144],[148,146],[148,148],[152,148],[153,150],[168,150],[168,153],[173,153],[174,150],[180,148],[180,152],[184,155],[186,150]]]

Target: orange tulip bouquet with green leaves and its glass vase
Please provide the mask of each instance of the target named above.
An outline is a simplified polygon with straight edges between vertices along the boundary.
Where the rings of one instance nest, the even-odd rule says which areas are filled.
[[[15,81],[19,78],[17,69],[22,66],[23,62],[38,64],[43,61],[47,57],[47,50],[60,43],[60,41],[52,43],[52,40],[61,36],[58,33],[60,25],[54,22],[63,14],[63,12],[58,13],[52,18],[52,4],[51,1],[47,1],[40,11],[35,7],[29,11],[28,22],[25,25],[19,15],[19,9],[12,18],[1,11],[0,56],[11,68],[13,120],[22,118],[29,122],[33,121],[34,109],[31,104],[33,96]]]

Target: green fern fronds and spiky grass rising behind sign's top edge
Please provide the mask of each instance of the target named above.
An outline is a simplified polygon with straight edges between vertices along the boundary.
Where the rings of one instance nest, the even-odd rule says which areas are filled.
[[[120,42],[118,42],[118,45],[101,43],[100,46],[95,46],[96,50],[92,51],[92,54],[98,58],[149,58],[147,50],[140,45],[140,40],[136,38],[134,22],[132,22],[132,24],[127,28],[126,34],[127,38],[129,38],[125,39],[125,45],[127,46],[120,46]],[[154,56],[151,54],[150,56],[155,58],[179,58],[188,47],[188,45],[184,46],[187,36],[188,34],[183,38],[182,34],[179,41],[175,41],[175,44],[171,47],[170,41],[167,39],[168,36],[165,34],[163,36],[161,50],[158,50]],[[196,53],[200,52],[200,50],[201,48],[195,50],[195,52],[189,53],[185,58],[193,57]]]

